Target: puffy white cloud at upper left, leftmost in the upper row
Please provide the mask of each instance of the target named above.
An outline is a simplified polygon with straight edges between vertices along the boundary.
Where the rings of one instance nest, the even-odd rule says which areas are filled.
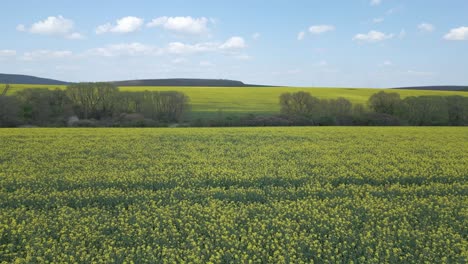
[[[68,39],[82,39],[83,36],[74,32],[73,20],[63,16],[49,16],[44,20],[33,23],[29,28],[23,24],[16,26],[16,30],[32,34],[62,36]]]

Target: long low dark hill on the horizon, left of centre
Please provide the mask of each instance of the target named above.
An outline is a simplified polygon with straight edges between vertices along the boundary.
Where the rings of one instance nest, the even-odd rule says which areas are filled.
[[[194,86],[194,87],[259,87],[241,81],[216,79],[148,79],[112,82],[117,86]]]

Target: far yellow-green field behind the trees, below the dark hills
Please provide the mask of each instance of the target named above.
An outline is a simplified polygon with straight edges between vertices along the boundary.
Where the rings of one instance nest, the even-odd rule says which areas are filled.
[[[1,86],[0,86],[1,87]],[[31,85],[12,85],[11,91],[30,87],[46,87]],[[64,89],[65,86],[52,86],[51,88]],[[210,117],[222,111],[224,115],[241,115],[247,113],[274,114],[279,112],[279,96],[285,92],[310,91],[313,96],[323,99],[344,97],[352,103],[366,104],[368,98],[380,89],[357,88],[292,88],[292,87],[122,87],[123,91],[180,91],[191,99],[193,117]],[[467,92],[451,91],[418,91],[418,90],[391,90],[401,96],[420,95],[462,95]]]

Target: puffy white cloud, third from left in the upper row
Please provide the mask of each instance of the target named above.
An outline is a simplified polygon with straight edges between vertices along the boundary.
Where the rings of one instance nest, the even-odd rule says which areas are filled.
[[[203,34],[208,32],[208,20],[205,17],[192,18],[187,17],[158,17],[148,24],[147,27],[162,27],[169,31],[188,33],[188,34]]]

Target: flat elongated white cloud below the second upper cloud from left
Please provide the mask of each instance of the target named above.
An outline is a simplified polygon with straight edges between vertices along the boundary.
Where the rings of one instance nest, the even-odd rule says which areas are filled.
[[[146,45],[139,42],[112,44],[102,48],[90,49],[85,55],[117,57],[117,56],[143,56],[161,55],[163,50],[156,46]]]

